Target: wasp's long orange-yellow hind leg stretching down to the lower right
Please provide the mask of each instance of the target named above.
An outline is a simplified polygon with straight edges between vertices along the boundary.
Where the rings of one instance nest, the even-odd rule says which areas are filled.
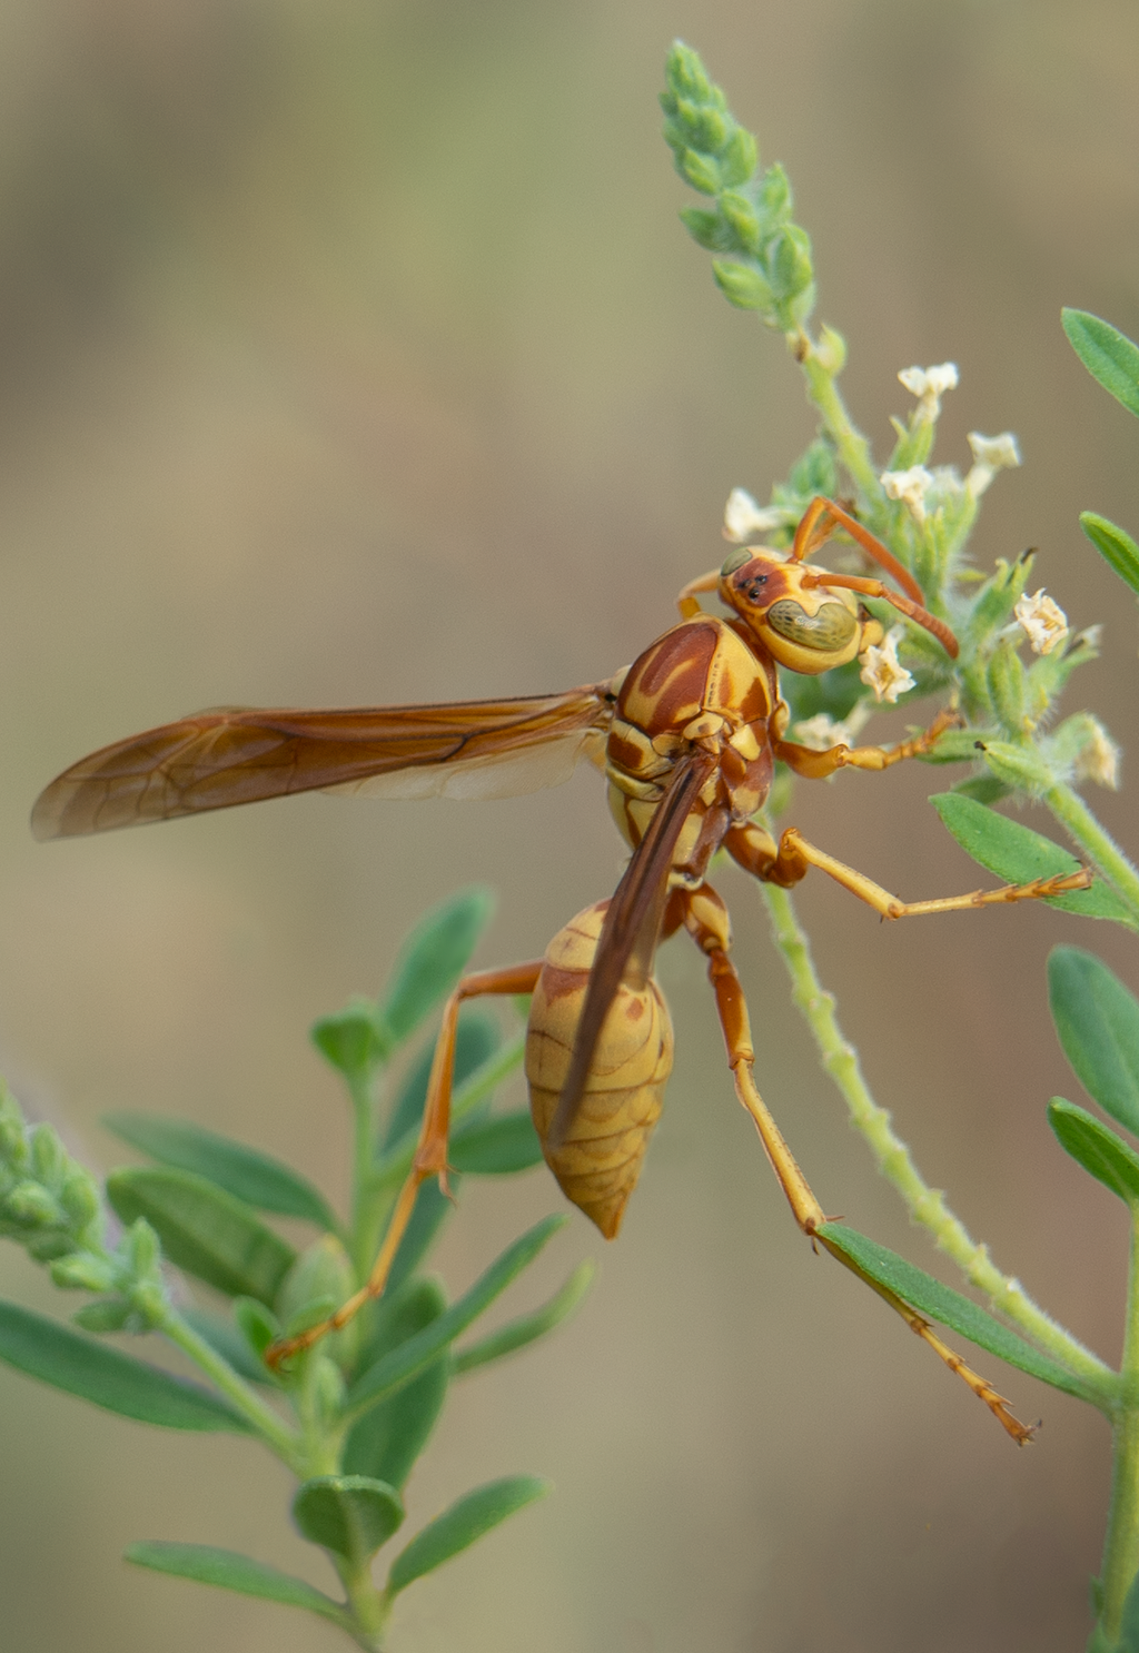
[[[957,1377],[960,1377],[962,1382],[974,1392],[974,1395],[977,1395],[979,1400],[984,1400],[1018,1446],[1027,1445],[1027,1441],[1032,1440],[1033,1431],[1012,1415],[1003,1397],[997,1393],[992,1384],[974,1372],[972,1367],[965,1365],[960,1355],[944,1344],[941,1337],[937,1337],[931,1322],[922,1314],[913,1309],[888,1286],[871,1279],[871,1276],[863,1273],[853,1258],[846,1256],[845,1251],[828,1240],[823,1227],[827,1223],[827,1215],[815,1198],[810,1184],[798,1169],[784,1132],[775,1124],[770,1109],[755,1086],[752,1073],[755,1051],[752,1046],[747,1002],[744,998],[744,990],[741,987],[739,975],[736,974],[736,967],[727,957],[727,949],[731,947],[731,921],[727,917],[727,907],[711,884],[703,884],[694,891],[673,891],[670,904],[670,919],[674,921],[679,916],[676,912],[676,907],[679,906],[684,927],[701,952],[708,957],[708,975],[716,992],[716,1010],[719,1013],[719,1025],[724,1031],[727,1065],[731,1066],[732,1079],[736,1081],[736,1094],[755,1122],[759,1139],[764,1144],[772,1170],[779,1177],[779,1185],[787,1195],[795,1222],[805,1235],[810,1235],[812,1243],[822,1245],[833,1258],[836,1258],[836,1261],[843,1265],[843,1268],[858,1274],[858,1278],[865,1281],[870,1289],[883,1299],[883,1303],[889,1304],[894,1314],[901,1316],[906,1326],[909,1326],[909,1329],[921,1337],[922,1342],[929,1344],[934,1354],[946,1362],[951,1372],[956,1372]]]

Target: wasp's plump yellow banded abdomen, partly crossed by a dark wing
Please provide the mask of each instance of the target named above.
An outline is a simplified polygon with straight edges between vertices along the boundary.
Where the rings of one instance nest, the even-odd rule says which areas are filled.
[[[526,1035],[526,1078],[546,1164],[567,1200],[612,1240],[636,1187],[648,1139],[660,1119],[665,1081],[673,1071],[673,1023],[656,982],[618,987],[565,1141],[557,1149],[546,1141],[569,1071],[607,907],[608,901],[585,907],[546,949]]]

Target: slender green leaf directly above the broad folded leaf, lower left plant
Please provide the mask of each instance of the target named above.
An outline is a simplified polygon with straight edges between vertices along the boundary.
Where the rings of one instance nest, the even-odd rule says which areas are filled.
[[[327,1200],[306,1177],[243,1142],[203,1131],[188,1119],[157,1119],[154,1114],[104,1114],[102,1124],[160,1165],[192,1170],[260,1212],[337,1228]]]

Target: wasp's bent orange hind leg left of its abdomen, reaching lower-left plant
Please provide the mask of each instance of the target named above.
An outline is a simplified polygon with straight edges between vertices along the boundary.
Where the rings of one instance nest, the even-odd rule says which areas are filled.
[[[435,1060],[431,1061],[431,1076],[427,1083],[423,1124],[420,1126],[415,1159],[395,1200],[392,1220],[379,1256],[372,1265],[372,1273],[365,1284],[347,1303],[342,1303],[327,1321],[321,1321],[319,1326],[309,1326],[306,1331],[298,1332],[296,1337],[283,1337],[281,1342],[269,1344],[264,1351],[268,1365],[276,1369],[289,1355],[301,1354],[303,1349],[311,1349],[314,1342],[319,1342],[329,1332],[339,1332],[342,1326],[347,1326],[359,1314],[365,1303],[382,1296],[422,1185],[430,1177],[438,1177],[440,1187],[446,1193],[446,1141],[451,1126],[451,1086],[455,1078],[455,1038],[458,1033],[460,1005],[465,998],[478,998],[486,993],[532,993],[541,969],[542,962],[539,959],[536,964],[516,964],[504,970],[481,970],[476,975],[463,977],[446,1000],[443,1025],[435,1045]]]

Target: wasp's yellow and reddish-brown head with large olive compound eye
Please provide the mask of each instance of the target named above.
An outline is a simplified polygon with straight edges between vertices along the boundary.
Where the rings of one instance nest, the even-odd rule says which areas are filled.
[[[810,585],[803,584],[807,575]],[[741,545],[719,570],[719,597],[780,666],[817,676],[845,666],[883,638],[883,628],[853,592],[815,585],[820,577],[827,579],[825,569],[807,569],[774,550]]]

